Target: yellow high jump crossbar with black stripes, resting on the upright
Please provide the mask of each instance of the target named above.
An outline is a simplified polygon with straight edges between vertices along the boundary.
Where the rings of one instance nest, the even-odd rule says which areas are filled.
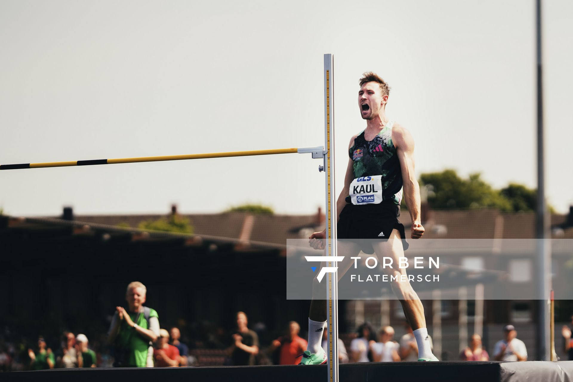
[[[289,153],[313,153],[313,157],[315,157],[315,153],[320,152],[320,155],[322,155],[322,151],[323,147],[320,146],[320,147],[303,147],[303,148],[279,148],[270,150],[253,150],[253,151],[209,152],[203,154],[189,154],[189,155],[142,156],[135,158],[119,158],[119,159],[76,160],[71,162],[0,164],[0,170],[19,170],[22,168],[45,168],[45,167],[93,166],[95,164],[162,162],[164,160],[206,159],[206,158],[222,158],[230,156],[273,155],[273,154],[289,154]]]

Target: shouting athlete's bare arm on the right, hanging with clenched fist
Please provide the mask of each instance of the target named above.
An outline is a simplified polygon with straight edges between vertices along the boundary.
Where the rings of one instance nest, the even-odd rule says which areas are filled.
[[[411,238],[419,239],[424,234],[424,227],[420,218],[420,187],[414,170],[414,138],[401,125],[394,124],[392,140],[402,170],[404,199],[412,219]]]

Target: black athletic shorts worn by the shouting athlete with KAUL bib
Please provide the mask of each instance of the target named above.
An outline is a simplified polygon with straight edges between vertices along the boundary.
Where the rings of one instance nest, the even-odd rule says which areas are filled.
[[[393,229],[402,237],[404,250],[408,249],[404,226],[398,221],[400,206],[393,200],[378,204],[346,204],[340,212],[336,226],[339,241],[359,243],[360,249],[368,255],[374,253],[373,241],[387,241]]]

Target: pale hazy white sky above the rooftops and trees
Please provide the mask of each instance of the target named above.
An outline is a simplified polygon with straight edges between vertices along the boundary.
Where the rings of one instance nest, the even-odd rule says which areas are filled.
[[[571,1],[544,1],[547,195],[573,203]],[[534,1],[0,2],[0,164],[323,144],[323,54],[335,54],[336,194],[365,127],[360,74],[392,86],[417,174],[536,186]],[[308,155],[0,172],[11,215],[284,214],[324,204]]]

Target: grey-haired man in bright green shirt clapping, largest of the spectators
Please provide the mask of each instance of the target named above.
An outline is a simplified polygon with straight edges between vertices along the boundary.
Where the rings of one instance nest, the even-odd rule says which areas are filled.
[[[113,345],[115,367],[153,367],[153,347],[159,336],[159,317],[154,309],[143,306],[147,288],[139,281],[129,283],[125,292],[128,309],[116,306],[108,331]]]

